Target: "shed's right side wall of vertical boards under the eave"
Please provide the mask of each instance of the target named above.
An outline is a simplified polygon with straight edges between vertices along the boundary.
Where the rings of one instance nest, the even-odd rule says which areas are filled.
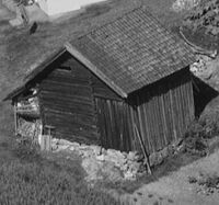
[[[160,150],[182,137],[194,118],[188,69],[172,75],[131,98],[135,103],[129,103],[137,105],[132,106],[134,123],[137,124],[148,152]],[[138,143],[134,147],[139,149]]]

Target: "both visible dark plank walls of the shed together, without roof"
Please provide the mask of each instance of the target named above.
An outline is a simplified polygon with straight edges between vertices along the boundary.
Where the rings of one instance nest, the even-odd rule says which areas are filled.
[[[105,148],[140,150],[136,124],[148,152],[157,151],[181,137],[194,117],[187,68],[125,101],[70,58],[50,72],[39,89],[44,125],[55,126],[58,137]]]

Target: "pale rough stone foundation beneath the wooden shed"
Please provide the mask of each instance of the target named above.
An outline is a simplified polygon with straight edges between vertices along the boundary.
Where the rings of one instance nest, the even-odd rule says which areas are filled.
[[[181,149],[182,140],[151,153],[150,166],[155,167],[163,162],[170,155]],[[77,153],[82,158],[82,167],[88,173],[87,181],[96,180],[123,181],[136,180],[139,174],[146,173],[142,156],[136,151],[122,152],[114,149],[104,149],[100,146],[80,145],[65,139],[53,139],[51,149],[55,152],[67,151],[69,155]]]

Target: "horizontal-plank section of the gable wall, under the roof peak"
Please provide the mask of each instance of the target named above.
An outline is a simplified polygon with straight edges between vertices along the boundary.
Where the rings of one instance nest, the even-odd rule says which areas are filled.
[[[73,58],[62,62],[41,82],[44,125],[55,126],[56,137],[100,144],[90,84],[90,72]]]

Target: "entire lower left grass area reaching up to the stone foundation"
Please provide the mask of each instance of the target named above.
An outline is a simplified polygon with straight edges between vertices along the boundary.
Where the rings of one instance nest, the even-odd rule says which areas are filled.
[[[79,157],[67,159],[65,155],[38,152],[30,144],[9,143],[0,144],[0,155],[4,150],[11,156],[1,159],[0,204],[119,204],[87,185]]]

